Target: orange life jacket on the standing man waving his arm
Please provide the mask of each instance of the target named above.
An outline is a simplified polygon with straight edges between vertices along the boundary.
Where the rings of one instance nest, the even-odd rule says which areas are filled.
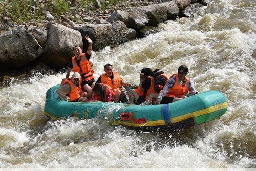
[[[79,63],[80,67],[76,62],[75,56],[72,57],[71,60],[72,60],[72,65],[73,65],[72,69],[74,72],[78,72],[79,74],[81,74],[81,72],[82,72],[86,81],[89,81],[94,78],[94,76],[93,76],[94,71],[91,70],[90,61],[87,60],[85,53],[82,53],[82,55],[81,55],[81,61]]]

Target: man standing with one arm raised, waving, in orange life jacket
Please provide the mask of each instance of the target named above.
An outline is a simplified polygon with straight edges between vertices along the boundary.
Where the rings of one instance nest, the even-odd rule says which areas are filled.
[[[92,40],[86,36],[87,42],[89,43],[87,52],[82,53],[80,46],[73,47],[74,57],[71,58],[66,78],[69,78],[70,72],[78,72],[81,75],[81,87],[84,91],[88,93],[89,98],[92,96],[93,87],[95,85],[95,80],[91,69],[92,63],[89,61],[92,51]]]

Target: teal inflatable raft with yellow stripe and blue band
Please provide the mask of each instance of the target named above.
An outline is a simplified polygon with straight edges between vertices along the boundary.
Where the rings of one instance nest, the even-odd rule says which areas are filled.
[[[59,85],[46,93],[45,114],[54,119],[78,117],[104,118],[113,125],[128,127],[198,125],[220,118],[227,111],[225,96],[218,91],[206,91],[186,99],[163,105],[130,105],[102,102],[68,102],[56,93]]]

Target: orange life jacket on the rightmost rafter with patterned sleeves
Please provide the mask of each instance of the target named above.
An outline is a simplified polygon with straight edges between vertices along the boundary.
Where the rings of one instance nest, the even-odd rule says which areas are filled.
[[[173,74],[170,78],[172,78],[175,75],[176,75],[176,79],[175,79],[174,86],[170,88],[169,92],[166,94],[166,97],[180,97],[180,96],[186,95],[188,93],[190,78],[185,77],[184,86],[182,86],[178,74]]]

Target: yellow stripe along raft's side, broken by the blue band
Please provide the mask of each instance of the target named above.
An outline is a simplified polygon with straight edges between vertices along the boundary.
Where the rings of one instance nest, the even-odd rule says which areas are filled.
[[[182,116],[177,116],[174,118],[171,118],[170,121],[172,123],[177,123],[182,120],[188,119],[188,118],[195,118],[197,116],[205,115],[211,112],[219,111],[221,109],[227,108],[227,102],[220,103],[214,106],[210,106],[209,108],[205,108],[199,111],[191,112]],[[172,112],[171,112],[172,113]],[[123,122],[123,121],[110,121],[111,124],[116,125],[124,125],[124,126],[132,126],[132,127],[142,127],[142,126],[163,126],[165,125],[164,120],[157,120],[157,121],[147,121],[146,123],[131,123],[131,122]]]

